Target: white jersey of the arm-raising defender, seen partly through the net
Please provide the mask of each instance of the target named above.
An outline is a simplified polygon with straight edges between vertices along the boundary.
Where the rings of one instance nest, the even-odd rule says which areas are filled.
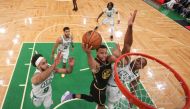
[[[114,64],[112,64],[112,69],[114,68]],[[139,77],[139,74],[136,72],[132,72],[131,68],[130,68],[130,63],[127,64],[124,67],[118,67],[118,75],[120,80],[123,80],[124,82],[130,83],[131,81],[137,79],[137,77]],[[115,80],[114,80],[114,70],[112,71],[112,75],[108,81],[109,84],[111,85],[116,85]]]

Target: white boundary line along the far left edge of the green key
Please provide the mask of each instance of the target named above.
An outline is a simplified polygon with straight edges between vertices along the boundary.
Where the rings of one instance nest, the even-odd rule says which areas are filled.
[[[22,42],[21,47],[20,47],[20,49],[19,49],[18,57],[17,57],[15,63],[18,62],[18,58],[19,58],[19,56],[20,56],[21,50],[22,50],[22,48],[23,48],[23,45],[24,45],[24,43]],[[7,96],[7,92],[8,92],[8,90],[9,90],[10,83],[11,83],[12,78],[13,78],[13,74],[14,74],[15,68],[16,68],[16,64],[15,64],[15,66],[14,66],[14,69],[12,70],[11,78],[9,79],[9,83],[8,83],[8,85],[7,85],[8,87],[7,87],[7,89],[6,89],[6,92],[5,92],[4,97],[3,97],[3,101],[2,101],[2,103],[1,103],[1,109],[3,109],[4,102],[5,102],[5,99],[6,99],[6,96]]]

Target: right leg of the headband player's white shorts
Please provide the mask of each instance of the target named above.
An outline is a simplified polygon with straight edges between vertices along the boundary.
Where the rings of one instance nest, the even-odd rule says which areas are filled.
[[[45,109],[50,109],[51,105],[53,104],[53,100],[52,100],[52,94],[48,94],[47,96],[44,97],[44,107]]]

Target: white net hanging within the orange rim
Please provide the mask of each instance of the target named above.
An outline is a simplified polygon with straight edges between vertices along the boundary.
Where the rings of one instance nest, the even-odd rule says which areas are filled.
[[[147,57],[131,55],[124,58],[130,61],[126,64],[123,62],[121,64],[120,61],[116,65],[116,71],[120,81],[131,94],[153,108],[183,108],[187,97],[182,83],[176,79],[171,70]],[[120,99],[114,102],[113,109],[138,108],[122,96],[118,94]]]

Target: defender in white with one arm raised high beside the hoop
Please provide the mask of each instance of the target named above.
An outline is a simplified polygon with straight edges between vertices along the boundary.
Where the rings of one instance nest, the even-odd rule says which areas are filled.
[[[117,49],[112,49],[112,53],[115,57],[119,57],[121,54],[125,54],[130,52],[132,43],[133,43],[133,35],[132,35],[132,27],[133,23],[136,17],[137,10],[134,11],[133,14],[131,14],[129,20],[128,20],[128,28],[125,34],[124,38],[124,46],[122,51],[120,51],[120,47],[117,44]],[[146,66],[147,61],[144,58],[137,58],[130,61],[130,59],[126,59],[123,62],[121,62],[122,65],[118,66],[118,73],[121,80],[124,80],[125,82],[129,83],[132,89],[135,89],[134,87],[137,87],[137,83],[135,82],[140,78],[139,74],[137,73],[139,69],[144,68]],[[113,66],[113,65],[112,65]],[[112,67],[113,70],[113,67]],[[114,81],[114,71],[112,73],[112,76],[110,77],[107,85],[107,96],[108,96],[108,109],[114,109],[114,104],[116,104],[122,97],[122,93],[120,92],[119,88],[117,87],[115,81]],[[135,91],[133,91],[135,92]],[[133,93],[135,94],[135,93]],[[131,107],[131,104],[130,104]]]

